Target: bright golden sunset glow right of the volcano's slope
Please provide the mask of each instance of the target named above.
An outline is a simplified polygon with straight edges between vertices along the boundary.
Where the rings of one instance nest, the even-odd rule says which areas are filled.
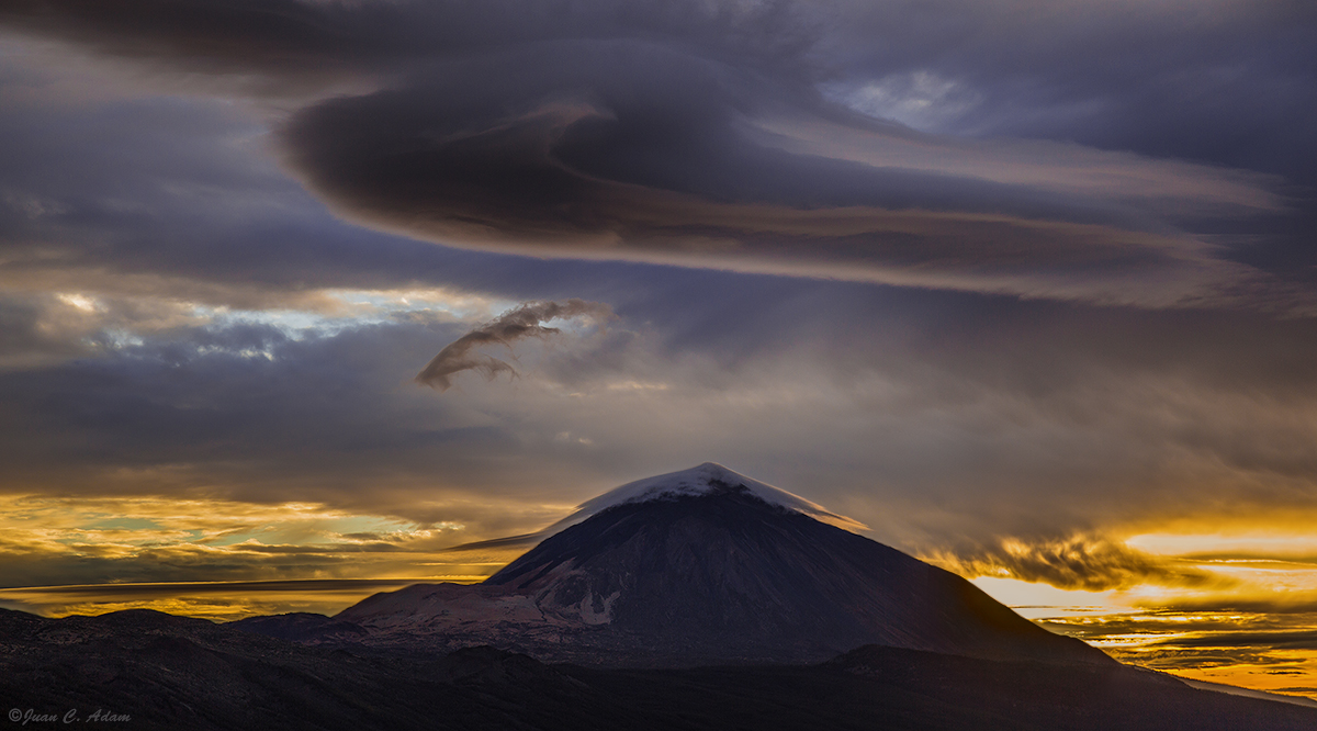
[[[1226,582],[1083,591],[1009,576],[972,582],[1043,627],[1122,663],[1179,677],[1317,699],[1313,539],[1271,531],[1141,533],[1122,545]],[[1023,551],[1017,545],[1018,551]]]

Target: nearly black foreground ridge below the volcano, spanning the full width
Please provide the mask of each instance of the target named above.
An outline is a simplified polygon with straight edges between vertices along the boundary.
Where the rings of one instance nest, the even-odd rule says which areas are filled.
[[[490,647],[360,653],[144,610],[65,619],[0,610],[0,703],[57,719],[25,728],[67,728],[65,714],[83,724],[101,711],[126,718],[115,727],[150,731],[1317,728],[1314,709],[1117,663],[869,645],[815,665],[605,669]]]

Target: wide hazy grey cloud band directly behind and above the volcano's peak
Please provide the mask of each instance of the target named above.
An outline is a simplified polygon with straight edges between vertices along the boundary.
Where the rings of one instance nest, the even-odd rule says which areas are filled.
[[[1308,320],[632,275],[607,335],[539,358],[515,394],[399,390],[462,323],[115,320],[142,342],[0,375],[11,489],[327,501],[469,540],[710,458],[903,545],[1312,507]],[[523,485],[562,514],[482,516]]]

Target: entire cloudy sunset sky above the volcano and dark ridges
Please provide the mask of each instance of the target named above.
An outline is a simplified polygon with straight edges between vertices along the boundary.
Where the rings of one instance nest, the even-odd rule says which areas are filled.
[[[716,461],[1317,694],[1314,41],[1309,0],[5,0],[0,603],[337,611]]]

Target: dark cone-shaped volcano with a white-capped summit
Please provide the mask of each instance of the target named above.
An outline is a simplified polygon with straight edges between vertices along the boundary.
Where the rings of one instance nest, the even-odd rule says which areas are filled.
[[[1112,663],[847,529],[857,523],[712,462],[618,487],[573,522],[481,585],[377,594],[325,630],[591,665],[814,663],[869,644]]]

